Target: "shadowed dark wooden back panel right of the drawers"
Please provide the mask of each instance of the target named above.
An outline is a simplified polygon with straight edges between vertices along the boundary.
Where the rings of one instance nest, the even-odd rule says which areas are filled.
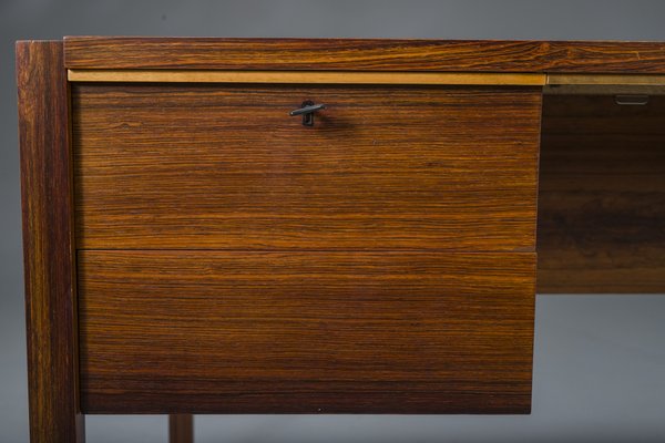
[[[665,292],[665,97],[546,96],[539,292]]]

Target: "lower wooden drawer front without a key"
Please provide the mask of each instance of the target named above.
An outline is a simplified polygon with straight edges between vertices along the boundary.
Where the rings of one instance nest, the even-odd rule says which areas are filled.
[[[86,413],[525,413],[535,255],[80,251]]]

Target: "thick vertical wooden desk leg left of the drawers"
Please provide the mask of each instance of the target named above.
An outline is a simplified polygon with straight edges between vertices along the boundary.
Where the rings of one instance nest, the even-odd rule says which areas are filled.
[[[30,439],[84,441],[62,42],[17,44]]]

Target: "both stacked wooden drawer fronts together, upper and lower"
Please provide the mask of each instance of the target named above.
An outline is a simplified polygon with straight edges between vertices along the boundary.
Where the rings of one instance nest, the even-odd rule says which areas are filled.
[[[83,411],[528,413],[540,113],[533,86],[74,84]]]

